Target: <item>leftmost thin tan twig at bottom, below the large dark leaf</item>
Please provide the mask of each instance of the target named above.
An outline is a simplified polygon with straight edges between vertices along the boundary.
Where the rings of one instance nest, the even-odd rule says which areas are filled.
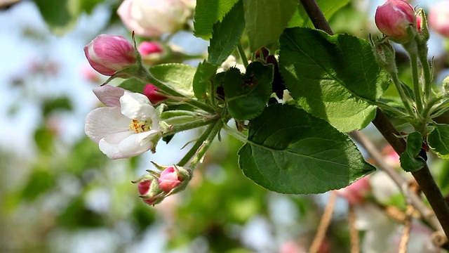
[[[334,212],[335,200],[337,200],[337,193],[335,191],[331,191],[329,194],[330,197],[328,200],[328,205],[326,205],[323,216],[321,216],[318,230],[316,231],[314,240],[311,242],[308,253],[318,252],[321,244],[323,243],[323,239],[326,236],[326,232],[328,231],[330,220],[332,219],[332,214]]]

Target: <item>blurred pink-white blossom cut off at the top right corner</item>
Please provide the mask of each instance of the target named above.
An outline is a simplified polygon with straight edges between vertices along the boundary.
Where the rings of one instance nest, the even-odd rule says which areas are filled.
[[[444,37],[449,37],[449,1],[441,1],[430,8],[429,27]]]

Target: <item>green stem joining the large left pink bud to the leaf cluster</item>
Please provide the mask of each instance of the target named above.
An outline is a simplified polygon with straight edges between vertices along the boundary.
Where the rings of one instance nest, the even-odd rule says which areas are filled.
[[[184,94],[175,91],[174,89],[171,89],[168,84],[163,83],[161,80],[156,79],[156,77],[153,76],[152,73],[149,72],[145,67],[141,66],[138,70],[138,74],[135,75],[136,78],[140,79],[143,82],[151,83],[157,88],[161,89],[161,91],[164,91],[170,96],[180,97],[185,99],[186,103],[189,103],[190,105],[199,108],[201,110],[204,110],[206,112],[215,113],[215,110],[211,108],[209,105],[206,105],[204,103],[199,102],[198,100],[194,100],[193,98],[190,98],[188,96],[185,96]]]

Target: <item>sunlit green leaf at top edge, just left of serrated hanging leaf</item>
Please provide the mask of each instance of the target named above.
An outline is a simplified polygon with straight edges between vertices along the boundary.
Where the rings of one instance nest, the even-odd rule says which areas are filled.
[[[213,25],[221,21],[237,1],[239,0],[197,0],[194,17],[195,36],[210,39]]]

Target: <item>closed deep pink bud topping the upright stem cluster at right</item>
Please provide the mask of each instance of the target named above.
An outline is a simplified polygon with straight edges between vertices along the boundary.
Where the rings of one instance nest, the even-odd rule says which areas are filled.
[[[415,24],[415,11],[403,0],[387,0],[377,7],[375,23],[380,32],[392,39],[406,39],[407,28]]]

